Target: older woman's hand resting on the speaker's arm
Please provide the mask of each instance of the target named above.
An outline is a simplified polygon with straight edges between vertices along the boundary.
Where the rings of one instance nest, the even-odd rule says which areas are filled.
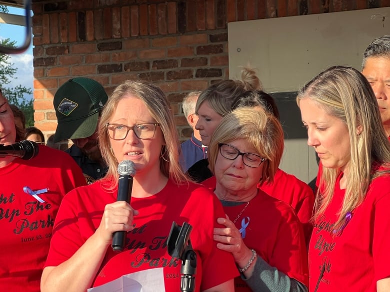
[[[214,240],[218,242],[216,247],[220,250],[230,252],[238,265],[244,263],[243,265],[245,266],[252,252],[244,244],[239,230],[229,220],[227,215],[226,218],[218,218],[217,223],[224,225],[225,228],[214,228]]]

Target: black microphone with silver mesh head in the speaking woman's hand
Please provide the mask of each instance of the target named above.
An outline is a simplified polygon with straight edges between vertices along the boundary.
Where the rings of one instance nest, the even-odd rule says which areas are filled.
[[[118,194],[116,201],[126,201],[130,203],[132,177],[135,175],[135,164],[131,160],[123,160],[118,165]],[[121,252],[123,250],[126,239],[125,231],[115,231],[112,236],[112,250],[114,252]]]

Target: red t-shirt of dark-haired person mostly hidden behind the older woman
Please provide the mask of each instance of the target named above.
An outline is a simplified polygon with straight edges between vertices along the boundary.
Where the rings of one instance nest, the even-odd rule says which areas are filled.
[[[314,207],[314,195],[311,188],[295,176],[277,169],[273,183],[259,186],[268,195],[289,204],[302,223],[306,244],[310,241],[312,224],[310,219]]]

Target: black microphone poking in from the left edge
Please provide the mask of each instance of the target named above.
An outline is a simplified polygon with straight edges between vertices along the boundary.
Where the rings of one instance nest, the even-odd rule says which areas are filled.
[[[18,143],[7,146],[0,144],[0,157],[14,156],[28,160],[38,155],[38,152],[38,144],[29,140],[22,140]]]

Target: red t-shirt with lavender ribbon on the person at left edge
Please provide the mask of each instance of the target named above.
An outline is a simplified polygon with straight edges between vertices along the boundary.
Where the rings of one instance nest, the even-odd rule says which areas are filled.
[[[31,160],[0,168],[0,288],[39,292],[54,218],[63,196],[85,185],[81,169],[66,153],[39,146]],[[48,189],[37,201],[23,191]]]

